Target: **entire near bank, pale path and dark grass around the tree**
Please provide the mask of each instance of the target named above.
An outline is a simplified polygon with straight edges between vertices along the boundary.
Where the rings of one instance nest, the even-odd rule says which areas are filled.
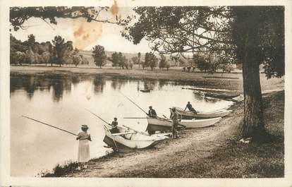
[[[238,141],[243,102],[209,128],[181,131],[146,150],[92,159],[87,169],[64,170],[61,177],[263,178],[284,177],[284,91],[264,95],[264,119],[272,139],[264,144]]]

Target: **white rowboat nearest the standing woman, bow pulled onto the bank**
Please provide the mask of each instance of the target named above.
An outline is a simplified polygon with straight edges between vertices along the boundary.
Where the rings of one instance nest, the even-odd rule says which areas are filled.
[[[110,128],[110,126],[104,126],[104,143],[107,143],[110,147],[118,148],[123,145],[133,149],[143,149],[157,145],[157,143],[168,138],[159,134],[147,135],[146,133],[133,131],[132,128],[126,126],[118,126],[119,133],[111,133]]]

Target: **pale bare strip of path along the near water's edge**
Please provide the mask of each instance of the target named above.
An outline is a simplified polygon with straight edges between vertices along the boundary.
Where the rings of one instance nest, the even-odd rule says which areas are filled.
[[[225,141],[234,136],[243,116],[242,103],[231,109],[233,112],[228,117],[212,127],[181,131],[179,139],[166,140],[151,149],[121,152],[111,157],[92,160],[87,169],[73,171],[65,176],[127,177],[128,174],[133,176],[133,173],[139,176],[145,170],[158,172],[155,177],[167,176],[165,172],[159,174],[159,171],[208,157],[215,148],[224,146]]]

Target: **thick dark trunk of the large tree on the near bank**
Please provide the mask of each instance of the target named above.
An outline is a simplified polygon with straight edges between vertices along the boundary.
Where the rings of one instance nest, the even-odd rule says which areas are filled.
[[[241,126],[243,138],[262,141],[265,138],[262,111],[262,90],[260,88],[260,68],[257,58],[257,29],[250,28],[245,33],[243,56],[244,120]]]

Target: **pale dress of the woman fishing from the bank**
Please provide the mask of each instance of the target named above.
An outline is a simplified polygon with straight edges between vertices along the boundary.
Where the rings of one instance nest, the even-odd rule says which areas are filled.
[[[90,146],[87,138],[90,137],[90,133],[82,131],[78,133],[78,137],[78,162],[88,162],[90,160]]]

